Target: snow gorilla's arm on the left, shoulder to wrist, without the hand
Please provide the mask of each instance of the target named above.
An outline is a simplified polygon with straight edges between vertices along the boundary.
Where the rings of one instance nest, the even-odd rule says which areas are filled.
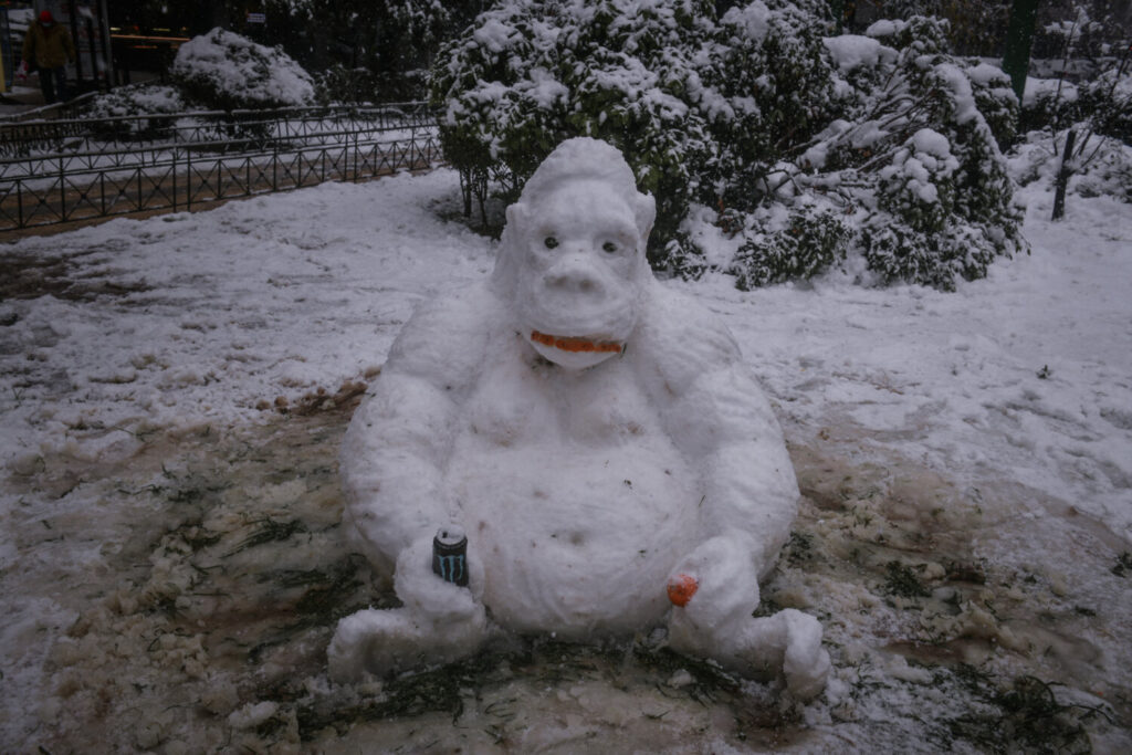
[[[492,301],[486,288],[473,286],[414,314],[350,422],[341,460],[344,520],[377,566],[392,567],[402,549],[452,517],[441,469],[456,405],[483,361]]]

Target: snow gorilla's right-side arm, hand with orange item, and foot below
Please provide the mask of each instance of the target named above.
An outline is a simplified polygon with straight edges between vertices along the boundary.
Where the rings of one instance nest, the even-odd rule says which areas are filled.
[[[722,324],[671,292],[654,299],[645,376],[703,491],[700,540],[669,576],[669,642],[744,675],[781,670],[789,692],[813,697],[830,669],[817,619],[794,609],[752,616],[798,505],[782,430]]]

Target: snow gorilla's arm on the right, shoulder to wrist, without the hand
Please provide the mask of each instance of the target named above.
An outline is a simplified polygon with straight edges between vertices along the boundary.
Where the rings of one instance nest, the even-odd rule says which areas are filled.
[[[702,540],[731,540],[763,575],[797,513],[782,430],[718,317],[662,286],[654,292],[642,325],[645,379],[700,473]]]

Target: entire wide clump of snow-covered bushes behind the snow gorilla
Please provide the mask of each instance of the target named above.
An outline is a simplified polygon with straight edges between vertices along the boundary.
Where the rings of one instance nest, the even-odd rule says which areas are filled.
[[[681,228],[700,205],[741,233],[721,266],[740,286],[857,252],[878,280],[950,289],[1023,244],[996,140],[1017,101],[947,54],[946,31],[914,17],[823,37],[816,1],[717,18],[702,0],[513,0],[443,51],[431,95],[468,212],[492,182],[514,196],[561,139],[594,136],[657,198],[658,268],[705,269]]]

